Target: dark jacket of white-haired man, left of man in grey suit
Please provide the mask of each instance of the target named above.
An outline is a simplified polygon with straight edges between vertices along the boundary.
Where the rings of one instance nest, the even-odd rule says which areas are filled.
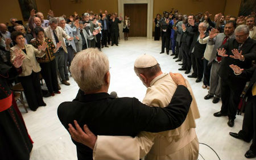
[[[200,35],[200,32],[197,31],[193,37],[193,41],[192,41],[192,44],[191,44],[191,48],[189,50],[189,53],[192,53],[192,50],[194,48],[194,54],[195,54],[195,57],[196,58],[203,58],[204,57],[204,50],[207,46],[207,44],[200,44],[199,43],[199,40],[198,40],[198,37]],[[205,37],[209,36],[209,33],[208,32],[205,32]]]

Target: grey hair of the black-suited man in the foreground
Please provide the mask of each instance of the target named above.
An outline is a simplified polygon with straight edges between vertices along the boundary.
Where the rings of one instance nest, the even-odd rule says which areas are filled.
[[[109,60],[106,54],[96,48],[85,49],[73,58],[70,71],[77,85],[85,93],[99,90],[105,83]]]

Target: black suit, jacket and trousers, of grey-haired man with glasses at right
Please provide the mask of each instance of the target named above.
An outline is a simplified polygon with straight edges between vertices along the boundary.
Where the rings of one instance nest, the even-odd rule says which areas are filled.
[[[228,56],[233,55],[232,49],[239,49],[236,39],[229,39],[221,48],[225,48]],[[229,119],[236,118],[236,111],[238,103],[240,102],[240,95],[245,87],[246,80],[234,75],[233,70],[229,65],[237,65],[242,69],[251,68],[251,61],[256,60],[256,41],[247,38],[242,44],[239,52],[242,50],[242,55],[245,57],[244,61],[236,60],[231,57],[222,57],[221,66],[218,74],[221,77],[221,113],[228,114]]]

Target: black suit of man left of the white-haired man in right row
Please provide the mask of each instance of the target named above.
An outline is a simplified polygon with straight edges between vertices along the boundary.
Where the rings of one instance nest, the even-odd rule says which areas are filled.
[[[185,24],[186,30],[181,32],[180,37],[180,54],[182,55],[182,61],[183,61],[183,68],[186,69],[188,72],[191,70],[191,54],[189,53],[189,50],[191,48],[191,44],[193,41],[193,37],[195,35],[195,32],[198,31],[198,24],[195,23],[194,26],[191,26],[190,24]]]

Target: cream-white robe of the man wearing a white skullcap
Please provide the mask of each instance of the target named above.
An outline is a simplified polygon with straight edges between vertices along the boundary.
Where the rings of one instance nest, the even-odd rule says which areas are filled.
[[[196,137],[195,119],[200,117],[195,96],[184,123],[174,130],[159,133],[141,132],[137,137],[98,136],[93,150],[94,159],[197,159],[199,142]],[[176,84],[169,74],[153,79],[143,103],[149,106],[165,107],[170,103]]]

